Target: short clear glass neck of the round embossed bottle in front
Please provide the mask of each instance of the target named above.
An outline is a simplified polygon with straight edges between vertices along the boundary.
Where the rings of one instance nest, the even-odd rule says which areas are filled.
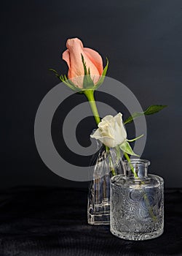
[[[124,161],[124,175],[132,179],[148,178],[148,167],[150,162],[146,159],[130,159],[130,162]]]

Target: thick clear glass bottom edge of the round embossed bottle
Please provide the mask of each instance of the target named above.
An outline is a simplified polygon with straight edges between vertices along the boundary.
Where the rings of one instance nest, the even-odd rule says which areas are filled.
[[[142,240],[149,240],[153,238],[157,238],[162,235],[164,230],[157,230],[152,233],[123,233],[119,232],[117,230],[113,230],[112,228],[110,229],[111,233],[114,236],[117,236],[119,238],[125,239],[125,240],[132,240],[132,241],[142,241]]]

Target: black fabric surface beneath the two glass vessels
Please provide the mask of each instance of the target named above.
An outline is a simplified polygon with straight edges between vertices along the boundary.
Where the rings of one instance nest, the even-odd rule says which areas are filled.
[[[124,241],[87,224],[87,190],[15,188],[0,194],[0,256],[182,255],[182,189],[165,192],[165,233]]]

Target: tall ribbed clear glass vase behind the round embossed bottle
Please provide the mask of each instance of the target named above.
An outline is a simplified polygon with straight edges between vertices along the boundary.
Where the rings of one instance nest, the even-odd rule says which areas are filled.
[[[90,225],[110,224],[110,180],[122,170],[119,148],[106,148],[98,142],[98,152],[90,167],[90,181],[87,204],[87,221]]]

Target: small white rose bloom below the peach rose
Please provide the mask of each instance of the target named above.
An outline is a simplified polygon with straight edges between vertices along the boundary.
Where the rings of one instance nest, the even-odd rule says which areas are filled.
[[[105,116],[98,124],[98,129],[90,137],[100,140],[109,148],[124,143],[127,140],[127,132],[122,121],[122,113],[116,116]]]

